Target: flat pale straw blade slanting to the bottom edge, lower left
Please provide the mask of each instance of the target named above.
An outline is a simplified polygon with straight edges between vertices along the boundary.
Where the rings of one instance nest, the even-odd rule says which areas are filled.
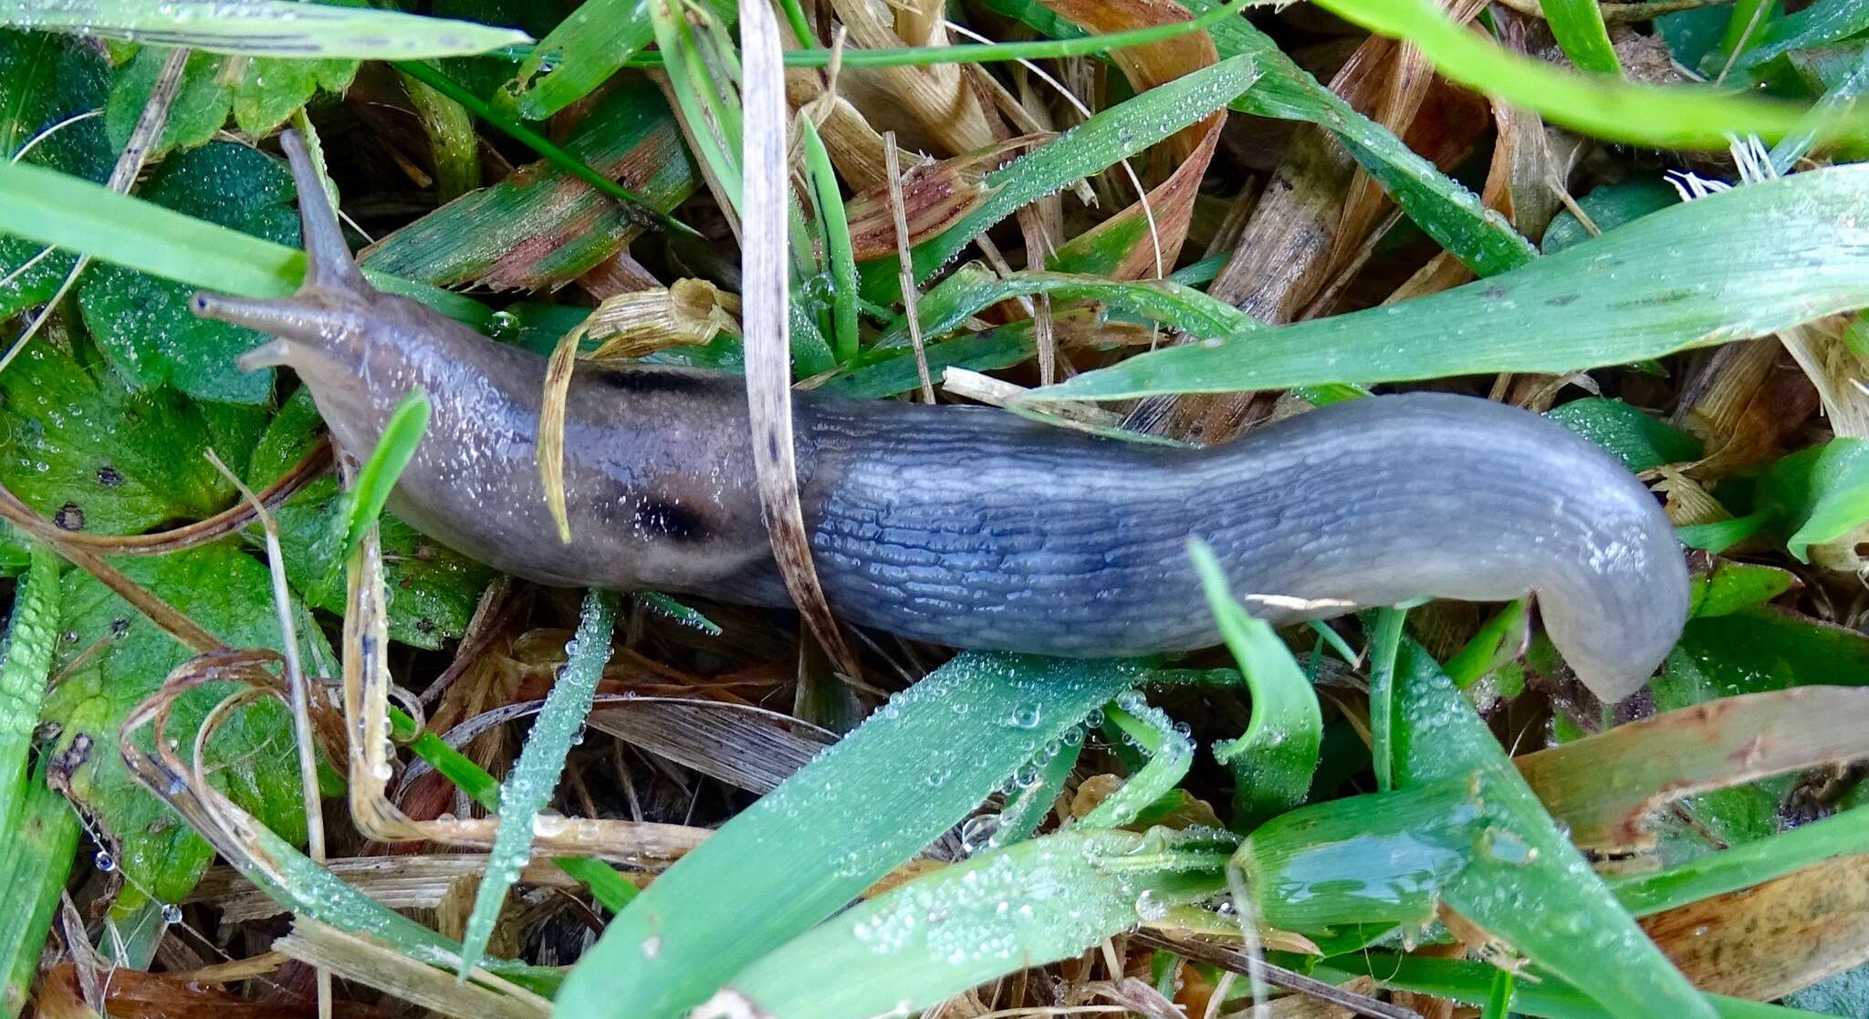
[[[456,980],[450,972],[417,963],[372,939],[340,931],[307,916],[292,922],[290,935],[273,940],[273,952],[458,1019],[548,1019],[551,1015],[549,1000],[492,972],[473,969],[464,980]]]

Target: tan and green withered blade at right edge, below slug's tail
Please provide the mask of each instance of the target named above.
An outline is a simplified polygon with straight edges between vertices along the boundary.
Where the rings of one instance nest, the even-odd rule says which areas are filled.
[[[1656,808],[1822,765],[1869,757],[1869,690],[1792,686],[1721,697],[1514,757],[1585,849],[1647,849]],[[1615,776],[1615,782],[1605,782]]]

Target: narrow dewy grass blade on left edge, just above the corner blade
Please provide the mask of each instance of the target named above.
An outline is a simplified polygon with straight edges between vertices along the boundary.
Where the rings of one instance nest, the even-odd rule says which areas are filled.
[[[0,834],[11,832],[26,810],[32,731],[58,643],[58,557],[39,544],[30,555],[0,653]]]

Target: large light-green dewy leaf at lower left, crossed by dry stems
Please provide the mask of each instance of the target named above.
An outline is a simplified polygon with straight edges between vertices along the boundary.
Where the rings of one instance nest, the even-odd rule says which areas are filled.
[[[230,645],[278,647],[265,567],[235,544],[125,557],[116,565]],[[43,712],[60,727],[49,750],[58,780],[112,840],[116,864],[133,888],[161,901],[179,901],[207,869],[213,851],[131,780],[118,752],[118,725],[189,658],[189,651],[80,570],[65,578],[62,600],[65,632],[54,667],[69,671]],[[336,660],[316,628],[299,634],[307,662]],[[99,647],[86,654],[92,645]],[[78,660],[80,654],[86,656]],[[213,682],[176,703],[166,737],[181,740],[185,757],[196,725],[234,690],[234,684]],[[290,746],[286,709],[278,701],[258,701],[235,712],[207,744],[209,772],[217,787],[264,825],[303,841],[305,804]]]

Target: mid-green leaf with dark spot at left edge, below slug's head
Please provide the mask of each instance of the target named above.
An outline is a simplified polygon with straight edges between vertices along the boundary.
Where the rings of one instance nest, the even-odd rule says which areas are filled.
[[[249,408],[131,389],[88,344],[43,338],[0,372],[0,482],[67,531],[142,533],[221,512],[235,499],[213,464],[252,449]]]

